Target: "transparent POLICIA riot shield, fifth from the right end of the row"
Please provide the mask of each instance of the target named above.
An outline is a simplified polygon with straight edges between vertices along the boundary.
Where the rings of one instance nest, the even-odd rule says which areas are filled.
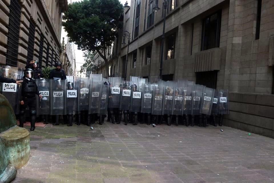
[[[183,114],[192,114],[193,87],[184,88]]]

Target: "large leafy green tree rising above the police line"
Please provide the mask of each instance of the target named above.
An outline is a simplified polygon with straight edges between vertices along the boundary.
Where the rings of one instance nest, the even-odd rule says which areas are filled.
[[[122,28],[123,10],[119,0],[74,2],[68,5],[68,11],[63,16],[63,26],[79,49],[97,52],[108,68],[106,50]]]

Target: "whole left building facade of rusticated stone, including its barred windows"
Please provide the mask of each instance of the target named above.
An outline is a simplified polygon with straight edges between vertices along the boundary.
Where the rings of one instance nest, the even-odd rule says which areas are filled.
[[[60,61],[62,12],[67,0],[0,0],[0,64],[41,68]]]

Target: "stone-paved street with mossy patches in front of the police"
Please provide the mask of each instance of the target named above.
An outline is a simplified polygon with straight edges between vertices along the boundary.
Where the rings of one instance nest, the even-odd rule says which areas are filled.
[[[93,128],[37,127],[29,163],[13,182],[274,183],[271,138],[213,126],[105,122]]]

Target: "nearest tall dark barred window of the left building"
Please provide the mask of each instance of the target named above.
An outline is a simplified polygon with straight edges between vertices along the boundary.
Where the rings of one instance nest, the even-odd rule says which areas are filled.
[[[11,0],[9,6],[9,27],[6,64],[17,67],[21,6],[18,0]]]

